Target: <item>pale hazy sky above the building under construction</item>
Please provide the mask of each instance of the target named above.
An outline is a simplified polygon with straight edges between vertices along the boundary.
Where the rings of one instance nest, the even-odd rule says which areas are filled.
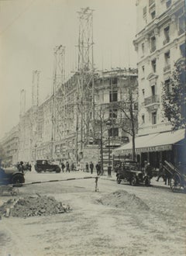
[[[33,71],[40,103],[51,95],[54,47],[65,47],[66,78],[76,70],[77,12],[86,7],[94,9],[95,68],[136,67],[136,0],[0,0],[0,139],[19,123],[22,89],[31,106]]]

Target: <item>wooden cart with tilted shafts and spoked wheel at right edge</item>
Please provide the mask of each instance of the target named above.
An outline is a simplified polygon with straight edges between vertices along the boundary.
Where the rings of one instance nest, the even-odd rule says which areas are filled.
[[[170,188],[172,192],[180,192],[181,188],[186,190],[186,175],[168,161],[164,161],[164,169],[170,174]]]

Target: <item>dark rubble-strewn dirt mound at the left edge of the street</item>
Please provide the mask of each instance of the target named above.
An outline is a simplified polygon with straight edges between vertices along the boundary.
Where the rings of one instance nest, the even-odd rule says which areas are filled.
[[[26,218],[67,213],[69,210],[71,210],[70,206],[57,202],[52,196],[26,196],[19,199],[9,199],[0,207],[0,215]]]

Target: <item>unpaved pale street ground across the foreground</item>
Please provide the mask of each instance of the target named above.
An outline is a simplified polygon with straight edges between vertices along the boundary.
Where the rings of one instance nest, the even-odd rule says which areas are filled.
[[[86,174],[88,175],[88,174]],[[84,173],[26,175],[26,182]],[[30,185],[17,197],[53,196],[69,204],[69,213],[51,216],[2,217],[0,255],[186,255],[185,194],[157,187],[95,181]],[[0,197],[0,204],[11,196]],[[110,199],[110,200],[109,200]]]

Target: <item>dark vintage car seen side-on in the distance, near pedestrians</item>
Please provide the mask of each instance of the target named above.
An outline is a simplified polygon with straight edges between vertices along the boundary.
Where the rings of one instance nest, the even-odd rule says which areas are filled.
[[[34,167],[37,172],[41,172],[41,171],[60,172],[60,166],[58,164],[52,164],[48,160],[37,160]]]

